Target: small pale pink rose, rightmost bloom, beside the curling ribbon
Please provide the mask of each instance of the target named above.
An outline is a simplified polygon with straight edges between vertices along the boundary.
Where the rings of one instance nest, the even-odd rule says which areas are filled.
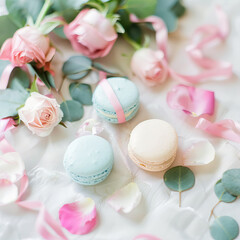
[[[160,50],[142,48],[131,60],[133,73],[149,86],[163,83],[168,76],[168,66]]]

